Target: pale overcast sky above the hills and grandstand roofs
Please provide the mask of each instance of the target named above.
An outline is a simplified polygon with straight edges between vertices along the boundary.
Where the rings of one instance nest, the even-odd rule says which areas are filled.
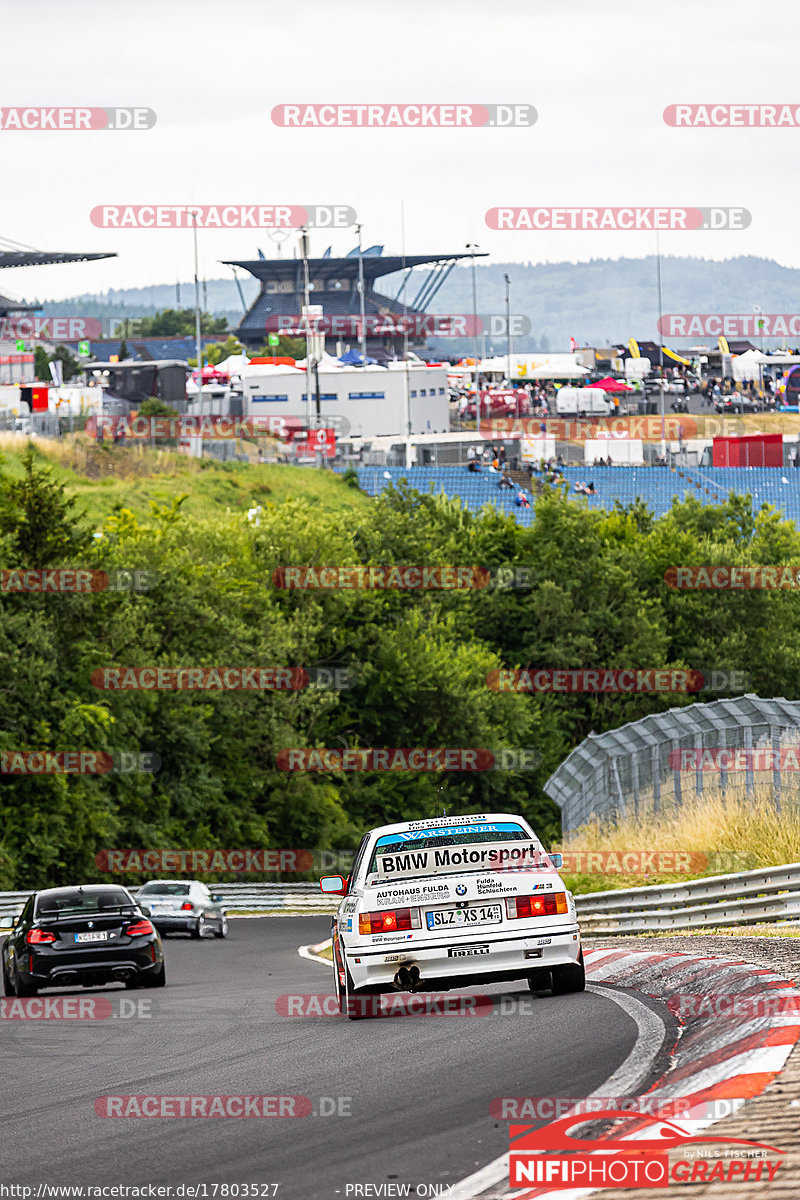
[[[723,205],[746,230],[666,232],[663,254],[800,266],[792,164],[800,128],[670,128],[672,103],[795,103],[789,0],[28,0],[0,104],[142,106],[155,128],[0,132],[0,236],[116,251],[2,271],[0,293],[59,298],[193,274],[190,230],[98,229],[98,204],[347,204],[365,246],[493,262],[644,257],[651,232],[498,232],[498,205]],[[7,25],[7,22],[6,22]],[[30,35],[30,36],[29,36]],[[279,103],[528,103],[530,128],[279,128]],[[288,251],[296,244],[293,235]],[[312,254],[355,233],[312,233]],[[200,272],[267,257],[267,230],[203,230]]]

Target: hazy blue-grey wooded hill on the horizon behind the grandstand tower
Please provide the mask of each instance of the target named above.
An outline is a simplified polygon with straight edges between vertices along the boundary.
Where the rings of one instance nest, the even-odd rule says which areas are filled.
[[[417,272],[420,282],[422,272]],[[481,263],[477,274],[477,311],[505,313],[504,275],[511,278],[511,312],[522,313],[531,322],[531,334],[515,342],[515,349],[563,350],[570,337],[578,344],[607,346],[627,342],[628,337],[643,341],[657,338],[656,259],[596,258],[588,263]],[[712,262],[704,258],[662,258],[663,312],[740,312],[751,313],[760,305],[768,313],[800,311],[800,270],[781,266],[772,259],[756,257],[729,258]],[[401,287],[399,275],[386,276],[379,287],[395,296]],[[241,280],[246,304],[258,292],[254,280]],[[419,283],[408,286],[409,300]],[[242,313],[241,300],[233,280],[206,282],[209,311],[229,319],[235,328]],[[194,284],[180,284],[182,307],[194,304]],[[86,317],[150,316],[160,308],[174,308],[174,283],[146,288],[124,288],[103,294],[84,294],[67,300],[44,301],[50,316],[82,314]],[[435,296],[437,312],[470,313],[473,311],[471,269],[456,266]],[[432,346],[443,352],[470,352],[471,341],[440,340]],[[680,344],[680,343],[679,343]],[[765,344],[769,344],[766,342]],[[488,353],[505,353],[505,338]]]

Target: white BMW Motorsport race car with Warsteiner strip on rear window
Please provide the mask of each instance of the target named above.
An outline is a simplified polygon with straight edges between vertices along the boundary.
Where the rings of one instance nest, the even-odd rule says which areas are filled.
[[[372,829],[349,878],[320,881],[343,896],[332,922],[339,1010],[374,1014],[351,997],[510,979],[583,991],[581,930],[560,865],[507,812]]]

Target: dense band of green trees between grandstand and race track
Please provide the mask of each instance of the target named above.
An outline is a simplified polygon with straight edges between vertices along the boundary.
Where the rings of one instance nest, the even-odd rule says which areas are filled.
[[[800,607],[790,592],[681,592],[669,568],[800,564],[800,534],[739,498],[585,510],[546,493],[522,528],[401,486],[351,524],[303,500],[191,518],[154,505],[100,529],[29,450],[0,464],[7,568],[143,570],[149,590],[0,594],[0,752],[152,752],[160,769],[0,775],[0,887],[98,877],[113,847],[351,846],[399,817],[519,811],[546,839],[558,812],[543,784],[590,731],[691,703],[688,695],[493,691],[500,667],[746,670],[747,690],[800,697]],[[342,485],[345,486],[344,484]],[[462,590],[287,590],[297,564],[481,565]],[[524,587],[498,568],[524,568]],[[102,668],[347,667],[350,690],[121,690]],[[716,698],[700,694],[700,700]],[[535,769],[483,773],[285,772],[293,748],[530,749]]]

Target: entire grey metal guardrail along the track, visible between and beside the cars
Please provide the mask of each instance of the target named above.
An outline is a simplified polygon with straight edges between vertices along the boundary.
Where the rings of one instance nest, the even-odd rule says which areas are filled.
[[[330,914],[338,899],[315,883],[217,883],[228,912]],[[0,929],[22,912],[30,892],[0,893]],[[575,898],[587,935],[646,934],[800,919],[800,863]]]

